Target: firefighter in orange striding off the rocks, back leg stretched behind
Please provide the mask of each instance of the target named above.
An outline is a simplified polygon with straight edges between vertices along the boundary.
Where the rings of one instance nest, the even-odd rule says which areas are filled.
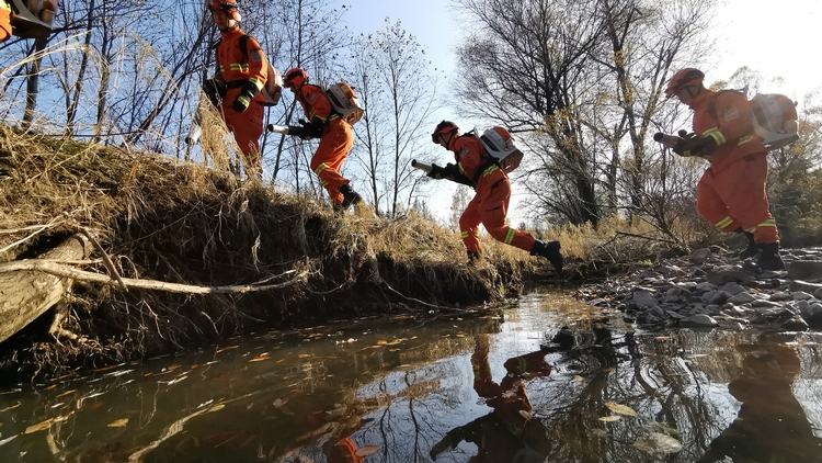
[[[429,177],[449,179],[473,184],[477,194],[459,217],[463,242],[468,248],[469,260],[479,259],[482,248],[479,241],[479,225],[486,226],[498,241],[529,251],[532,256],[548,259],[557,273],[562,272],[563,258],[559,241],[543,242],[529,233],[509,226],[507,210],[511,200],[511,182],[475,136],[459,135],[459,127],[450,121],[437,124],[431,135],[434,144],[454,151],[457,163],[445,167],[432,166]]]

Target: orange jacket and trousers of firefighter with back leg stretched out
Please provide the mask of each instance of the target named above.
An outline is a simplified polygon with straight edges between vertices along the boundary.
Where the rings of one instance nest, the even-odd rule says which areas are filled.
[[[488,162],[489,157],[479,139],[473,135],[455,136],[448,149],[454,151],[459,171],[477,183],[477,194],[459,217],[459,230],[466,248],[473,252],[482,251],[479,242],[481,223],[498,241],[530,251],[534,237],[507,224],[511,182],[499,166]]]

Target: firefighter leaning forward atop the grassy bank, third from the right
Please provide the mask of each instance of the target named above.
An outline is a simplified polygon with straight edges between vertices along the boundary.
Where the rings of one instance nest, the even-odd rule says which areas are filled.
[[[362,196],[351,188],[349,179],[340,174],[342,163],[354,146],[351,125],[336,114],[326,90],[308,83],[305,69],[288,69],[283,83],[302,105],[308,121],[300,120],[300,123],[313,133],[313,138],[320,138],[320,145],[311,157],[311,170],[328,191],[334,211],[342,212],[356,205],[363,201]]]

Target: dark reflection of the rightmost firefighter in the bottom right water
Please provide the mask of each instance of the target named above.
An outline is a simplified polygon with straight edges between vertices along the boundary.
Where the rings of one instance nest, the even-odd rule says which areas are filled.
[[[788,335],[766,334],[743,361],[742,374],[728,391],[742,403],[739,415],[708,448],[700,463],[822,462],[822,439],[813,436],[802,406],[794,396],[801,370]],[[764,349],[764,350],[763,350]]]

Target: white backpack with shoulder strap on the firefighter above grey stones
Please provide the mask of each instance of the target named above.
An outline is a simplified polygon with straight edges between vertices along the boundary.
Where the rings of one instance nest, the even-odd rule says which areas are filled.
[[[722,90],[745,95],[744,91]],[[788,97],[780,93],[757,93],[750,100],[753,132],[762,138],[768,151],[784,148],[799,139],[797,133],[797,106]],[[708,113],[717,118],[717,100],[708,103]]]

